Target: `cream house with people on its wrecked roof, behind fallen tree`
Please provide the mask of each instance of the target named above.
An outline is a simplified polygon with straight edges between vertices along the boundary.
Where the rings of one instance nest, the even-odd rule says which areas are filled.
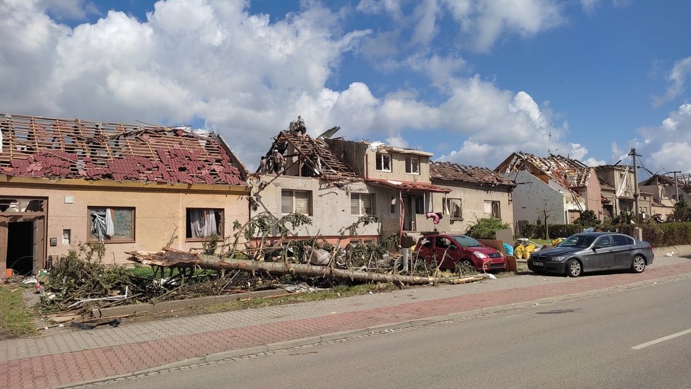
[[[273,157],[276,153],[280,157]],[[283,160],[282,166],[274,169],[274,158]],[[343,228],[376,211],[374,194],[365,180],[319,137],[306,135],[303,140],[295,132],[282,131],[266,160],[268,171],[260,166],[248,178],[253,198],[250,216],[266,214],[276,220],[297,213],[312,219],[311,225],[298,228],[289,238],[322,236],[336,243]],[[356,236],[344,235],[341,243],[376,243],[381,236],[379,223],[361,226],[356,232]]]

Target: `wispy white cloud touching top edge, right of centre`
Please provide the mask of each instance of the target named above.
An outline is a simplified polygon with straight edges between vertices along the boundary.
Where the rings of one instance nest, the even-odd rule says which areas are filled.
[[[555,0],[442,0],[471,47],[487,51],[503,34],[531,36],[564,21]]]

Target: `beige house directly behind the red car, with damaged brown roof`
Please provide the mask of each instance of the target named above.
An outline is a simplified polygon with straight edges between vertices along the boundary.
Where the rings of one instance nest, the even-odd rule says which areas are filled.
[[[513,226],[512,180],[488,168],[450,162],[432,162],[430,178],[432,184],[451,190],[433,195],[443,209],[439,231],[466,233],[478,219],[488,217]]]

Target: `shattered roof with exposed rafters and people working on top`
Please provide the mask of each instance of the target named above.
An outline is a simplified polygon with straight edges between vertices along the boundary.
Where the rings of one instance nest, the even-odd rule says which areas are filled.
[[[314,139],[309,135],[305,135],[303,141],[297,133],[281,131],[273,141],[271,149],[284,149],[288,144],[293,146],[291,151],[295,151],[298,158],[319,171],[319,177],[331,181],[362,180],[324,141]],[[266,155],[271,155],[271,151]],[[285,168],[287,169],[288,166]]]

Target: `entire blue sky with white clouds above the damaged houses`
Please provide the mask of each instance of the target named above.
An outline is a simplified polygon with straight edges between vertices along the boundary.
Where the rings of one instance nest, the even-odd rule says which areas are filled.
[[[302,115],[311,135],[339,125],[472,166],[631,163],[635,147],[654,173],[691,173],[690,15],[682,0],[4,0],[0,111],[191,124],[250,168]]]

